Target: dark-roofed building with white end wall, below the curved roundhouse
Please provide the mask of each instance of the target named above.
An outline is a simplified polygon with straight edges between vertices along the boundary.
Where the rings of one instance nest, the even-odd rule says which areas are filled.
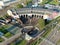
[[[31,39],[32,40],[35,39],[40,33],[40,31],[37,27],[32,27],[31,29],[24,28],[24,29],[22,29],[21,32],[22,32],[22,34],[25,34],[25,39],[27,41],[29,41]]]

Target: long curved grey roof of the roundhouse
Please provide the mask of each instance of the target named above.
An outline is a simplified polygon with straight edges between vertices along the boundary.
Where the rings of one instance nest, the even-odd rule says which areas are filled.
[[[50,9],[43,9],[43,8],[21,8],[17,9],[18,14],[30,14],[30,13],[36,13],[36,14],[52,14],[54,11]]]

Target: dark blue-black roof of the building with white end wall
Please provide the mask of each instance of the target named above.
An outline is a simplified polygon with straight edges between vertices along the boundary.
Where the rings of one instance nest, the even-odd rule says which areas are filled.
[[[39,30],[35,28],[31,28],[31,29],[24,28],[22,29],[22,33],[23,32],[27,33],[31,37],[36,37],[40,33]]]

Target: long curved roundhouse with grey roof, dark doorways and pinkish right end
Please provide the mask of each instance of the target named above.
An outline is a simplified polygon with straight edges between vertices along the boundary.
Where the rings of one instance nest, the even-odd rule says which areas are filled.
[[[43,9],[43,8],[21,8],[17,9],[16,13],[19,16],[30,16],[30,17],[42,17],[45,19],[54,19],[55,17],[59,16],[59,12],[53,11],[50,9]]]

